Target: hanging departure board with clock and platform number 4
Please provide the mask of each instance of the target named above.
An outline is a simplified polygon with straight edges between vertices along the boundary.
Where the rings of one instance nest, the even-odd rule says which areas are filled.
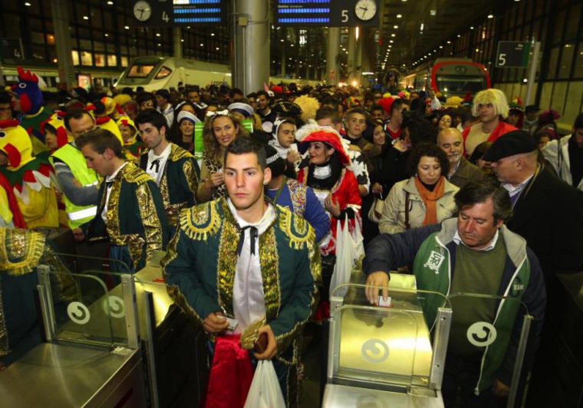
[[[227,24],[227,0],[138,0],[136,23],[142,26]]]

